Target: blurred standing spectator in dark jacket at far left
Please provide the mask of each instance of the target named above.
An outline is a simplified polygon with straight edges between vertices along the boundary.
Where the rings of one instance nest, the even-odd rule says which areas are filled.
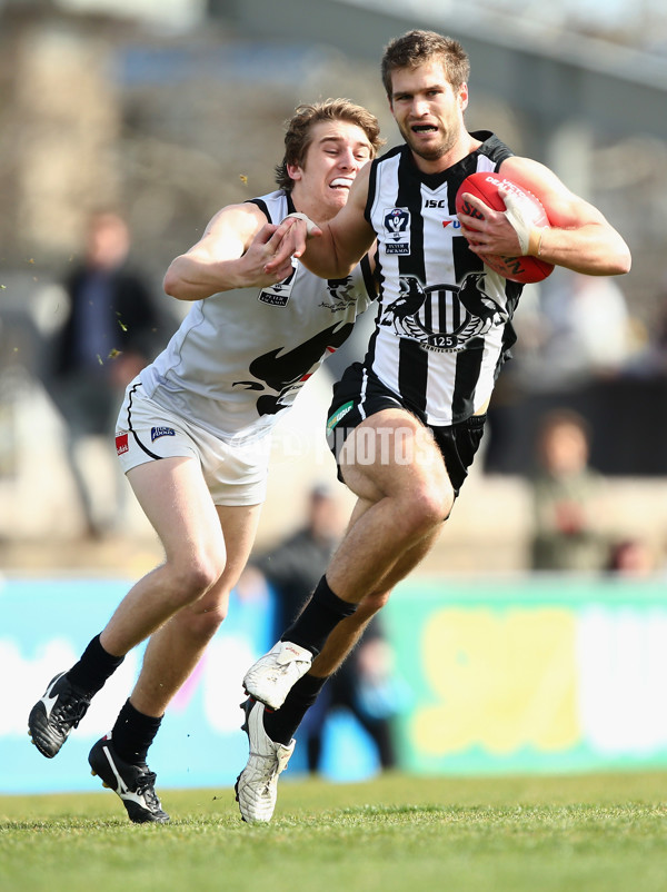
[[[68,315],[56,334],[46,374],[46,387],[66,424],[67,458],[92,537],[107,532],[116,517],[108,506],[102,512],[96,499],[99,475],[90,474],[82,447],[94,436],[108,436],[112,443],[123,390],[152,358],[160,334],[149,287],[127,264],[129,249],[121,217],[110,211],[91,216],[84,257],[63,281]],[[119,507],[127,485],[113,454],[110,462]]]

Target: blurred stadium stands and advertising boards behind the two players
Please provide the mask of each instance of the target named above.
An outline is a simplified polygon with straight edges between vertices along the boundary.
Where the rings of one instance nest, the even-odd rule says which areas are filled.
[[[472,63],[469,129],[496,130],[600,207],[630,244],[634,268],[620,291],[600,305],[591,298],[586,317],[565,274],[525,293],[482,460],[441,543],[388,611],[410,692],[397,722],[401,764],[667,764],[667,727],[656,714],[667,681],[664,3],[0,0],[0,665],[20,680],[0,720],[10,755],[0,792],[78,789],[88,737],[80,752],[72,741],[61,769],[37,764],[22,737],[27,711],[50,668],[71,662],[129,582],[161,556],[131,499],[113,535],[84,537],[62,420],[43,386],[60,281],[81,251],[88,215],[122,209],[133,259],[176,325],[183,308],[161,295],[165,269],[219,207],[272,188],[282,122],[296,105],[347,96],[379,117],[392,143],[378,61],[387,40],[410,27],[461,39]],[[360,326],[340,364],[362,349],[366,333]],[[329,388],[330,378],[316,376],[279,428],[259,548],[300,523],[313,483],[334,484],[322,437]],[[648,577],[528,572],[535,432],[556,406],[589,423],[591,464],[608,483],[600,526],[610,538],[646,543]],[[87,453],[101,504],[113,493],[110,449],[93,442]],[[337,492],[347,507],[348,494]],[[237,609],[197,692],[175,710],[160,745],[165,762],[178,764],[171,775],[165,764],[162,782],[230,782],[242,763],[238,716],[223,704],[222,645],[262,650],[270,605]],[[120,678],[118,691],[127,684]],[[101,721],[86,733],[96,735]],[[331,776],[374,770],[348,731],[357,733],[336,731],[331,751],[341,755]],[[202,759],[208,773],[191,771]],[[221,761],[231,766],[222,776]]]

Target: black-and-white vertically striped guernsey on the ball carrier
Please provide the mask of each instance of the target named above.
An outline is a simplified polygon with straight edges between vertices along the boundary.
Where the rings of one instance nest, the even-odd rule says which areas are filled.
[[[488,131],[440,174],[422,174],[407,146],[372,162],[366,218],[378,237],[380,306],[366,366],[434,426],[484,409],[515,341],[521,285],[468,248],[455,199],[464,179],[512,152]]]

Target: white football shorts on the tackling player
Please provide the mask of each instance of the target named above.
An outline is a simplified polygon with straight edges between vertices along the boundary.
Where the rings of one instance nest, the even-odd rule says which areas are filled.
[[[128,385],[116,423],[116,452],[125,474],[159,458],[195,458],[216,505],[265,500],[270,446],[270,430],[249,443],[225,443],[147,397],[138,378]]]

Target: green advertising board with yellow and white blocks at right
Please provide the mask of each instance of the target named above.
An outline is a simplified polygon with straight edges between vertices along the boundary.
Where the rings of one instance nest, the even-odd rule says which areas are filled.
[[[667,592],[598,578],[415,578],[386,608],[404,766],[667,764]]]

